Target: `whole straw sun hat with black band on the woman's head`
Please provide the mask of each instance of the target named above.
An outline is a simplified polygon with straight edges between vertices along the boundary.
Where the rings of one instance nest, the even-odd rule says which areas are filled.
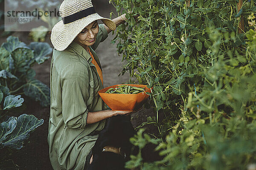
[[[53,26],[51,32],[52,45],[58,51],[66,49],[84,27],[93,21],[102,20],[109,29],[116,29],[113,20],[96,13],[91,0],[64,0],[59,11],[62,20]]]

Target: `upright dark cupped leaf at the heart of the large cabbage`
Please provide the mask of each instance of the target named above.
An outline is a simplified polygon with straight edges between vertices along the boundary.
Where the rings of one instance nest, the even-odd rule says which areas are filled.
[[[28,47],[16,48],[12,52],[15,70],[26,72],[35,61],[33,51]]]

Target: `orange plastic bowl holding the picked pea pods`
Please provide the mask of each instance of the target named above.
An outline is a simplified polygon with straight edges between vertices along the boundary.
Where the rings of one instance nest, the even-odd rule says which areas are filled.
[[[131,85],[131,84],[125,84]],[[110,88],[116,88],[119,85],[111,85],[107,88],[103,88],[98,91],[99,96],[101,96],[102,100],[112,109],[112,111],[137,111],[139,110],[143,104],[146,102],[148,98],[148,94],[145,92],[151,93],[151,89],[147,88],[147,85],[131,85],[138,88],[144,88],[145,92],[141,92],[138,94],[109,94],[105,93]]]

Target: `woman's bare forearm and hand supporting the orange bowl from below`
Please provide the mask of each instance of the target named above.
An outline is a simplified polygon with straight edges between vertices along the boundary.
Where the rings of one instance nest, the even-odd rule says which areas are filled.
[[[127,114],[127,113],[133,113],[133,112],[131,112],[131,111],[111,111],[111,110],[88,112],[86,123],[87,124],[96,123],[103,119],[108,119],[109,117],[116,116],[118,114]]]

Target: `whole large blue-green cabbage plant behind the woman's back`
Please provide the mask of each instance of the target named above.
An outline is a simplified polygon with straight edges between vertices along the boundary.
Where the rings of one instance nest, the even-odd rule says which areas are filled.
[[[9,36],[0,48],[0,83],[9,89],[11,94],[25,94],[48,106],[50,89],[42,82],[35,80],[35,71],[31,68],[37,62],[49,59],[52,48],[46,42],[31,42],[28,46],[17,37]],[[35,82],[35,83],[32,83]],[[32,87],[33,86],[33,87]]]

